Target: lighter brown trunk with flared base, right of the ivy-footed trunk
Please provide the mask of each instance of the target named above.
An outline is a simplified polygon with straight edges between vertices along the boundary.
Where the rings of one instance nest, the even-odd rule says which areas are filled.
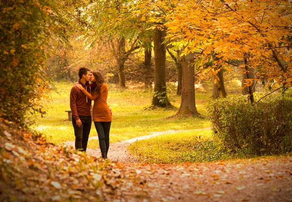
[[[190,65],[194,54],[180,57],[183,70],[182,100],[178,111],[179,114],[194,115],[199,114],[195,103],[195,69]]]

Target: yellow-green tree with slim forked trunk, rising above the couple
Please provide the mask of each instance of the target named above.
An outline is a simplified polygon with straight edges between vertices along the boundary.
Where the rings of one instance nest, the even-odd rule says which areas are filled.
[[[144,47],[144,39],[152,34],[146,30],[147,24],[141,23],[143,16],[135,14],[135,6],[135,2],[127,0],[100,0],[82,7],[81,19],[87,23],[84,38],[88,47],[94,46],[100,39],[114,41],[110,43],[110,48],[116,61],[121,87],[125,87],[125,61],[135,50]]]

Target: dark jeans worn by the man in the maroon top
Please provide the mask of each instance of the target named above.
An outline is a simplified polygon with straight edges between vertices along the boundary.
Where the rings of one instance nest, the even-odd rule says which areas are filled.
[[[89,133],[91,129],[91,116],[79,115],[79,118],[82,123],[81,127],[77,127],[76,121],[72,116],[72,125],[74,128],[75,135],[75,149],[86,151]]]

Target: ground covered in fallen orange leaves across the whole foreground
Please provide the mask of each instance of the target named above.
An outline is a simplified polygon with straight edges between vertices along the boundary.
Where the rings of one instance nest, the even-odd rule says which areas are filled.
[[[288,155],[192,164],[118,163],[56,146],[1,122],[0,147],[3,202],[292,201]]]

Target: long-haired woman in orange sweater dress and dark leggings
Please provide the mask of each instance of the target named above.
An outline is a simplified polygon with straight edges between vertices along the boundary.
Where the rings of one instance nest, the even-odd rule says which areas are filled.
[[[96,87],[92,91],[92,95],[87,92],[80,84],[75,84],[89,99],[94,100],[93,104],[93,122],[98,134],[99,147],[101,155],[104,159],[108,158],[108,151],[110,147],[110,124],[111,124],[111,110],[107,104],[108,87],[101,73],[91,73],[92,86]]]

